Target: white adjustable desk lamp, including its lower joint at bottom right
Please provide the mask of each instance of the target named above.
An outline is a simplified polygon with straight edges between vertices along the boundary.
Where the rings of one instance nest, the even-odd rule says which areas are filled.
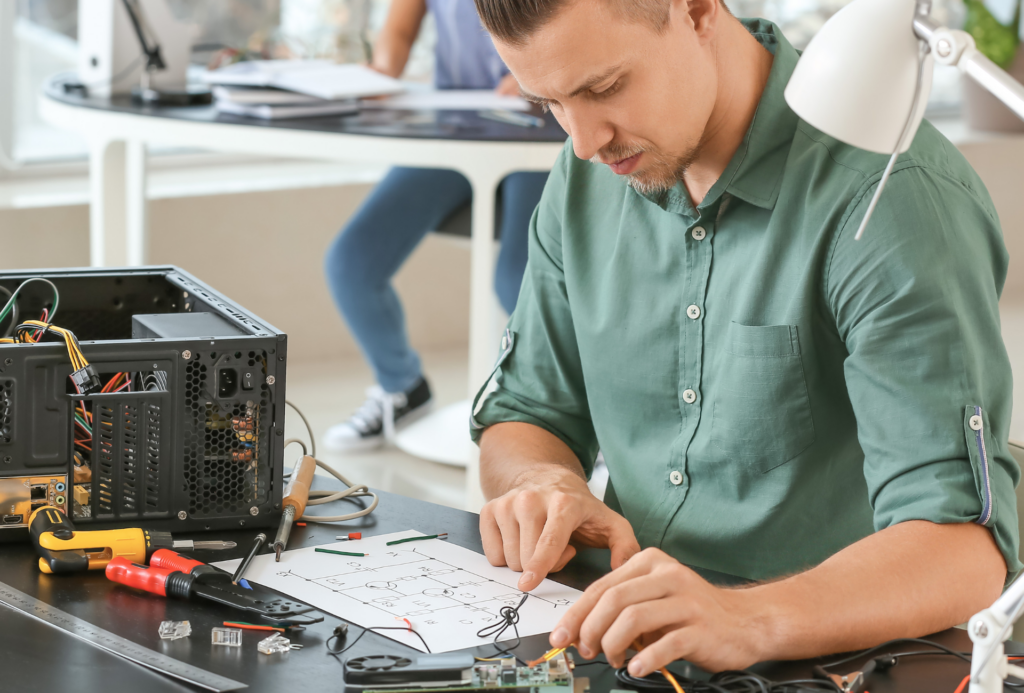
[[[1024,119],[1024,87],[982,55],[974,39],[931,18],[931,0],[854,0],[815,35],[797,63],[785,100],[798,116],[847,144],[890,154],[855,237],[864,232],[897,157],[910,147],[931,91],[931,67],[956,66]],[[1001,693],[1002,643],[1024,612],[1024,579],[971,618],[970,693]]]

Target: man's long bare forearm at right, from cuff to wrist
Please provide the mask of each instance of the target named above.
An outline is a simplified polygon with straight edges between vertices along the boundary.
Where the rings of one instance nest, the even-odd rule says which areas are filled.
[[[807,572],[740,590],[739,603],[766,648],[759,658],[797,659],[967,621],[998,597],[1006,571],[980,525],[904,522]]]

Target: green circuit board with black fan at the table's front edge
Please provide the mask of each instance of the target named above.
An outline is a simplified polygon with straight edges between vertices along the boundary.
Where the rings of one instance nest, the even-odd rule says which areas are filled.
[[[584,693],[590,681],[574,678],[572,658],[561,653],[536,666],[513,657],[476,659],[462,653],[373,655],[345,661],[345,686],[364,693],[522,689],[530,693]]]

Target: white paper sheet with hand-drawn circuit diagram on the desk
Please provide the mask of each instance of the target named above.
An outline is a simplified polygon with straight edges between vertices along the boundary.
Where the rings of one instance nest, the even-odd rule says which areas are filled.
[[[411,625],[433,652],[494,642],[493,637],[476,634],[501,620],[503,607],[519,604],[523,596],[515,587],[519,573],[492,566],[483,556],[443,540],[385,546],[418,534],[397,532],[325,547],[367,553],[367,557],[314,553],[313,549],[286,552],[281,563],[274,563],[273,556],[260,556],[246,576],[362,627]],[[237,561],[217,565],[231,569],[232,564]],[[519,608],[519,635],[550,632],[580,594],[544,580]],[[424,649],[408,631],[380,633]],[[514,638],[509,629],[501,640]]]

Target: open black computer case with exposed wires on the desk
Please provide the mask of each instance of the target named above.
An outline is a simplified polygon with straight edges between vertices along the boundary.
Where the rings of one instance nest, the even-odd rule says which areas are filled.
[[[286,335],[173,266],[0,271],[0,306],[12,295],[0,542],[43,505],[82,528],[275,523]]]

